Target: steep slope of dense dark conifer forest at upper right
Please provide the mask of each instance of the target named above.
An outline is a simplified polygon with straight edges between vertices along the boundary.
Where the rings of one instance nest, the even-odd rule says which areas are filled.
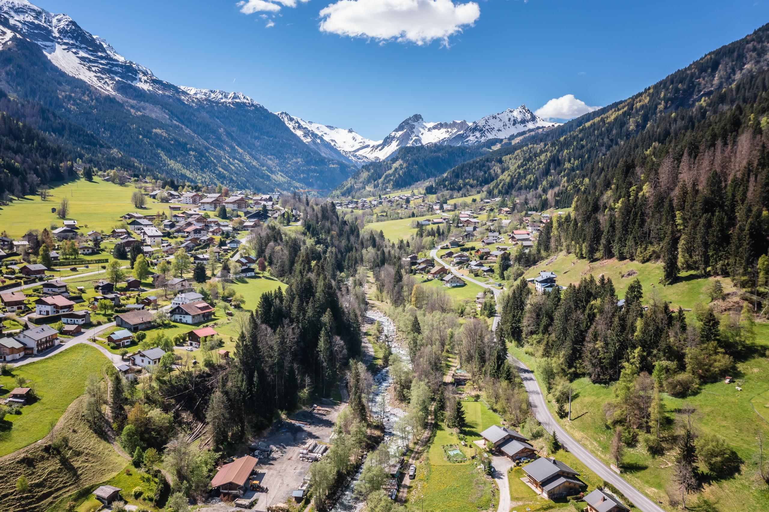
[[[566,131],[571,128],[571,131]],[[769,249],[769,25],[625,101],[451,169],[437,186],[573,206],[539,251],[661,259],[755,287]],[[752,284],[751,284],[752,283]]]

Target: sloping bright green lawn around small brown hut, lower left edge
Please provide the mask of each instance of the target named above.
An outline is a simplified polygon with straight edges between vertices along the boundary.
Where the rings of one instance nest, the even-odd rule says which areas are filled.
[[[27,386],[34,387],[38,401],[22,407],[22,414],[8,414],[0,421],[0,456],[32,444],[50,431],[64,411],[85,391],[88,374],[100,374],[107,359],[94,347],[80,344],[61,354],[42,361],[25,364],[13,371],[12,376],[0,377],[0,396],[11,391],[15,377],[27,379]]]

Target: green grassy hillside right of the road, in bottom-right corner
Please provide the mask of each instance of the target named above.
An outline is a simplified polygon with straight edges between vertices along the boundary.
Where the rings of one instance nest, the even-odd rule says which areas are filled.
[[[716,510],[769,510],[766,484],[755,477],[758,454],[756,435],[759,431],[763,431],[764,436],[769,435],[769,360],[764,357],[769,348],[769,324],[757,324],[756,331],[754,356],[738,361],[737,370],[733,373],[742,391],[737,391],[734,384],[718,381],[704,384],[694,396],[675,398],[664,395],[668,415],[675,416],[675,411],[681,410],[684,404],[696,407],[697,434],[723,437],[744,461],[741,474],[704,485],[701,497],[716,503]],[[529,367],[536,368],[534,357],[516,347],[510,350]],[[581,378],[574,381],[573,387],[571,409],[574,419],[571,422],[559,421],[572,437],[609,464],[608,454],[614,432],[606,424],[603,407],[613,398],[613,386],[593,384],[587,378]],[[548,407],[555,411],[553,401],[548,400]],[[667,434],[673,434],[672,427]],[[665,489],[673,477],[674,455],[674,451],[670,451],[655,458],[640,445],[629,448],[623,460],[626,469],[624,477],[648,496],[667,503]]]

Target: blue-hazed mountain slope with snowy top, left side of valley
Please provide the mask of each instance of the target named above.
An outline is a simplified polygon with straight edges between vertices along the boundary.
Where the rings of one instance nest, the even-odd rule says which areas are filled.
[[[0,45],[0,87],[143,166],[284,190],[331,188],[354,170],[309,148],[251,98],[161,81],[72,18],[25,0],[0,0]]]

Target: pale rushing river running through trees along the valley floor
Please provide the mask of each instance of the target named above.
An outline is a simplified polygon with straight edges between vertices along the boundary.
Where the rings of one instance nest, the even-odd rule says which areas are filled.
[[[382,326],[382,333],[379,337],[380,341],[384,341],[385,337],[390,341],[390,347],[392,349],[391,357],[398,357],[407,366],[411,367],[411,361],[409,360],[408,353],[404,351],[400,344],[395,342],[395,324],[386,314],[379,311],[368,311],[366,316],[371,322],[378,321]],[[389,368],[383,368],[373,376],[375,388],[373,390],[373,397],[371,402],[374,405],[371,415],[375,419],[382,419],[384,424],[384,439],[383,443],[387,443],[390,449],[390,453],[394,455],[403,454],[406,447],[408,447],[408,440],[401,439],[398,434],[395,433],[395,423],[404,417],[406,411],[399,407],[394,407],[390,401],[388,401],[388,390],[392,386],[392,377],[390,375]],[[384,408],[384,414],[382,409]],[[355,496],[355,484],[358,482],[358,478],[361,476],[363,470],[363,464],[361,464],[358,473],[352,478],[350,483],[345,487],[345,491],[337,501],[337,504],[331,512],[359,512],[363,509],[365,504],[364,500],[361,500]]]

